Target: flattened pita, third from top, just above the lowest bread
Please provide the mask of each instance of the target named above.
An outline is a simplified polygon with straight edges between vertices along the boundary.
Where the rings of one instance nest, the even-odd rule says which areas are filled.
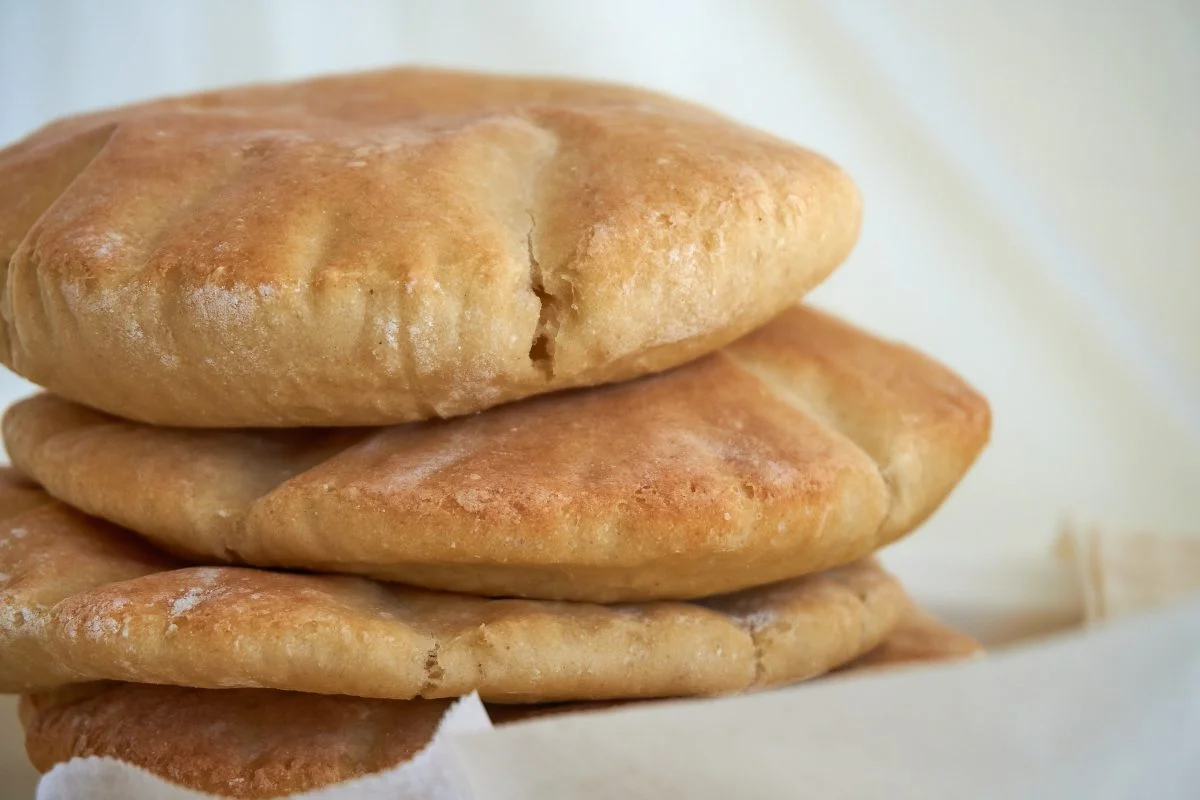
[[[510,703],[718,694],[846,663],[907,602],[872,561],[626,606],[185,567],[60,504],[0,523],[0,691],[125,680]]]

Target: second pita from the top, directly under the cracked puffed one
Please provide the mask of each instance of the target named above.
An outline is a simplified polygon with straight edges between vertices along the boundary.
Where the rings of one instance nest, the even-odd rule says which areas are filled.
[[[4,423],[52,494],[198,560],[594,602],[864,558],[937,507],[989,429],[948,369],[799,307],[661,375],[445,422],[192,431],[43,395]]]

